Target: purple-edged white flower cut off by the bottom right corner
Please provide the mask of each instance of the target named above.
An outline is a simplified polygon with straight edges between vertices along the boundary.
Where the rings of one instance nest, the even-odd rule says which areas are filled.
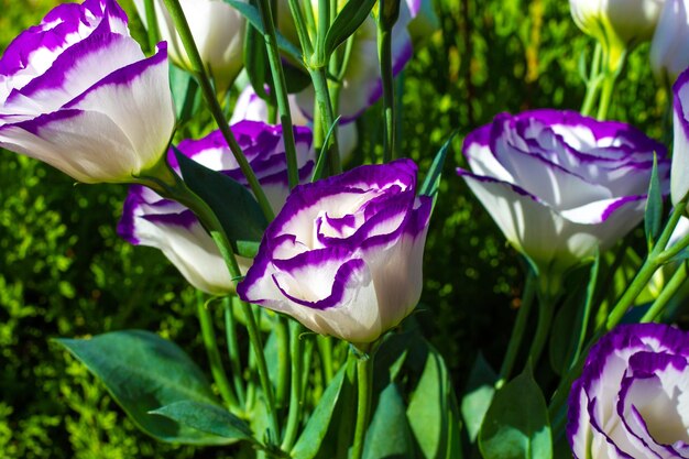
[[[569,395],[577,459],[689,458],[689,334],[623,325],[589,352]]]

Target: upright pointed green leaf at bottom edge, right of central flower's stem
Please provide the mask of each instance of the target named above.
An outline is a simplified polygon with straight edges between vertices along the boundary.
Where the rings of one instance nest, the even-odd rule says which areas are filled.
[[[378,402],[363,446],[363,459],[413,457],[414,439],[407,423],[404,398],[397,384],[390,383]]]

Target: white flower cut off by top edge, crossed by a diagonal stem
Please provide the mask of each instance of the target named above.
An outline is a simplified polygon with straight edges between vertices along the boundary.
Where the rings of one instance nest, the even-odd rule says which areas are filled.
[[[134,0],[134,4],[146,21],[143,0]],[[164,2],[154,0],[153,4],[161,36],[169,43],[169,59],[192,70],[189,56]],[[243,66],[244,17],[222,0],[179,0],[179,6],[206,68],[220,90],[228,89]]]

